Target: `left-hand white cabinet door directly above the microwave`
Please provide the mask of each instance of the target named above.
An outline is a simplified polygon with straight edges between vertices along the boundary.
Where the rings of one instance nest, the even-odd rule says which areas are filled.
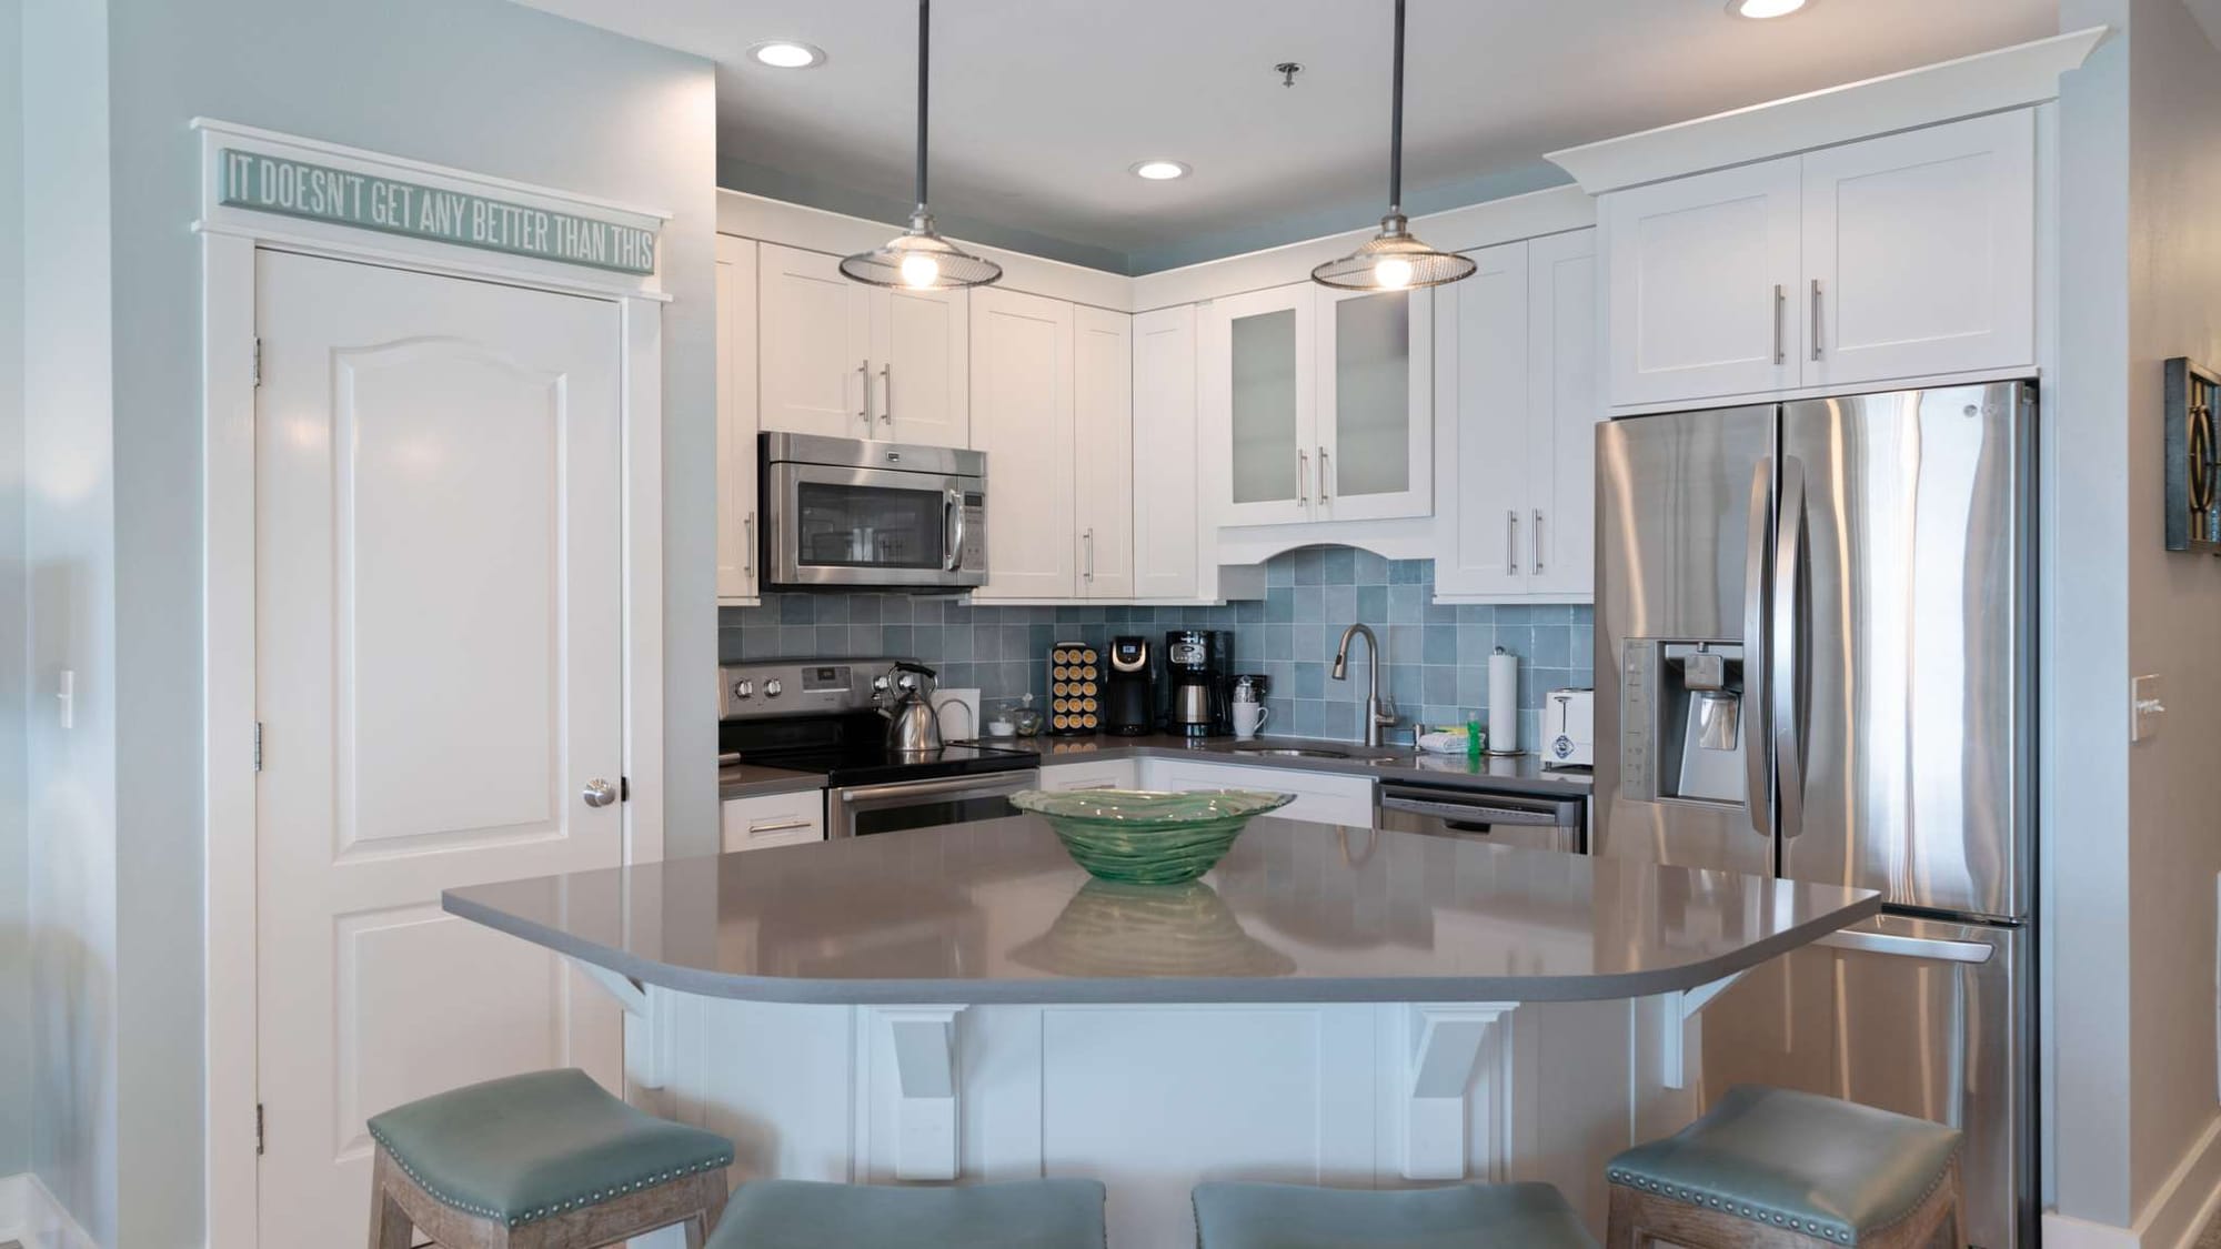
[[[875,438],[871,420],[871,287],[840,258],[757,244],[764,429]]]

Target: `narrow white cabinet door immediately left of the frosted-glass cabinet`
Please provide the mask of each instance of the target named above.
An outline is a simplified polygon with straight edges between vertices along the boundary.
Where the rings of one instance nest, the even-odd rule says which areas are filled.
[[[1133,318],[1133,596],[1202,589],[1195,307]]]

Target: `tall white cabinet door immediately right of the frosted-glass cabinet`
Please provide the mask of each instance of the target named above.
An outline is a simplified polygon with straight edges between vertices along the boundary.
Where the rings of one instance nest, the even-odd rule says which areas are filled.
[[[1524,593],[1528,440],[1528,244],[1468,253],[1477,269],[1435,291],[1446,467],[1435,518],[1435,593]],[[1595,336],[1595,327],[1590,327]]]

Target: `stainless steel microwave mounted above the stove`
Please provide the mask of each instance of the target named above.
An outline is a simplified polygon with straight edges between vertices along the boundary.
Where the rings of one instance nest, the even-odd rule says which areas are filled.
[[[768,589],[986,584],[986,453],[764,433]]]

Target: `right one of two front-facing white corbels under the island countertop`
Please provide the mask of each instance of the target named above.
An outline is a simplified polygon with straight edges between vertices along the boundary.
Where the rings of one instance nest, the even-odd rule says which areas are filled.
[[[1466,1096],[1475,1071],[1488,1078],[1475,1096],[1488,1098],[1484,1180],[1504,1180],[1504,1109],[1510,1098],[1508,1022],[1517,1002],[1413,1005],[1406,1016],[1404,1178],[1464,1180]]]

